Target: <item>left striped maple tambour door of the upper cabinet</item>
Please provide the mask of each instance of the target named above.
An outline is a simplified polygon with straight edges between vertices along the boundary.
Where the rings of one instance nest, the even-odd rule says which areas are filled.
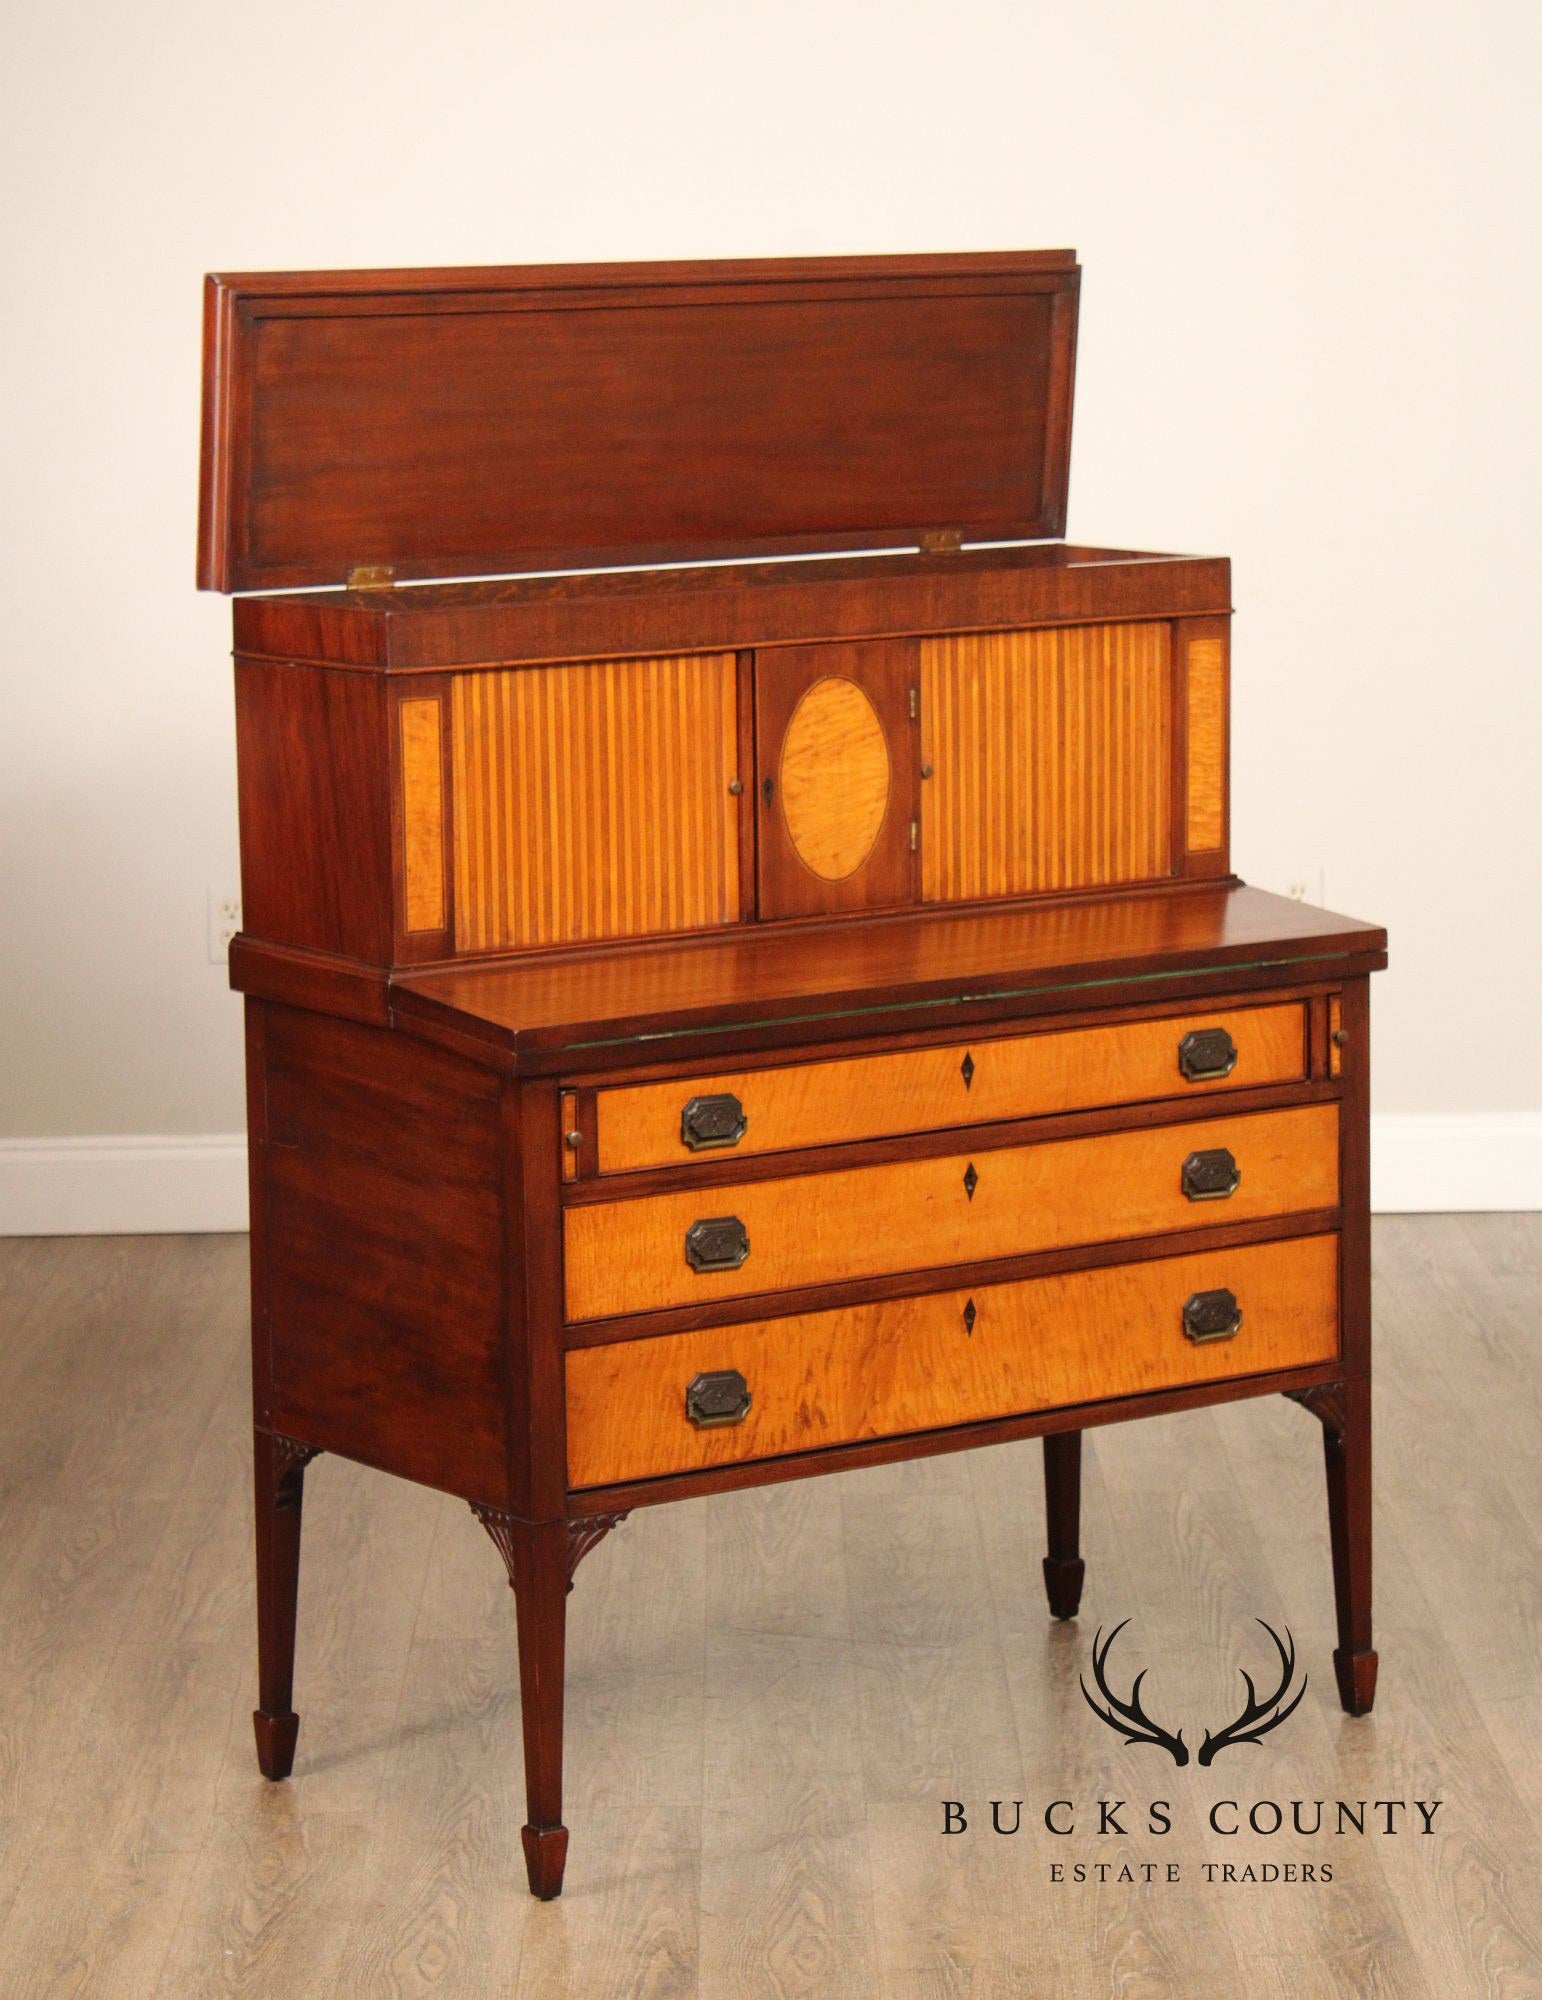
[[[456,950],[738,918],[734,654],[452,688]]]

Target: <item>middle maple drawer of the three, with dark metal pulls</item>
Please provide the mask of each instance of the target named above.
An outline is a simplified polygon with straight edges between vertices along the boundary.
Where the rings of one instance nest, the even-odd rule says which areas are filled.
[[[1236,1162],[1236,1188],[1218,1192],[1206,1174],[1196,1192],[1184,1192],[1190,1154],[1222,1150]],[[1212,1160],[1210,1168],[1220,1164]],[[1336,1204],[1336,1104],[726,1188],[686,1186],[568,1208],[568,1318],[654,1312]],[[744,1242],[748,1250],[738,1256]],[[702,1262],[718,1268],[698,1268]]]

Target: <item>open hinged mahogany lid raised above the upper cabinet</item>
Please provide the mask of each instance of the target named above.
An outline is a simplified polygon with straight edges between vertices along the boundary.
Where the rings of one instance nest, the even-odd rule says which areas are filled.
[[[1070,250],[214,276],[198,582],[1058,536],[1078,278]]]

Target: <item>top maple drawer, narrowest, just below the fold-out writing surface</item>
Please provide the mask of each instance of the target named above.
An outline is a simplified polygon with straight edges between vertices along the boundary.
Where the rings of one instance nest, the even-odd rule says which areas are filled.
[[[1234,1066],[1216,1074],[1230,1060],[1228,1042]],[[740,1154],[836,1146],[890,1132],[1288,1084],[1302,1076],[1306,1008],[1300,1000],[772,1070],[720,1070],[672,1084],[600,1090],[598,1166],[602,1174],[622,1174],[712,1160],[728,1146]]]

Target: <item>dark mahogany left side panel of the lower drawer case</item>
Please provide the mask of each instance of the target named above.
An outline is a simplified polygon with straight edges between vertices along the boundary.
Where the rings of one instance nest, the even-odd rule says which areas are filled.
[[[274,1426],[502,1502],[496,1076],[292,1008],[264,1068]]]

